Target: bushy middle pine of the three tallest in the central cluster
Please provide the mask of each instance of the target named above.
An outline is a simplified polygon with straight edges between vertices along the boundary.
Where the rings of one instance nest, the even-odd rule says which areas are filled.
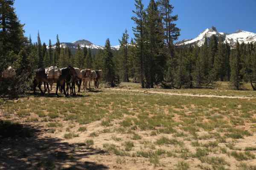
[[[165,56],[161,53],[164,44],[164,32],[162,17],[158,11],[157,4],[150,0],[145,15],[145,79],[146,88],[153,88],[154,83],[163,80],[164,71],[161,69],[165,63]],[[161,63],[162,62],[162,63]]]

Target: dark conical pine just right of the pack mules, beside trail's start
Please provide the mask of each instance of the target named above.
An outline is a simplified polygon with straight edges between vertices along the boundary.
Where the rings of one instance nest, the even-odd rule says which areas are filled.
[[[105,61],[104,61],[105,81],[111,87],[115,87],[115,86],[119,85],[120,82],[118,81],[118,79],[116,77],[115,66],[113,63],[113,53],[111,51],[109,39],[107,39],[106,43],[105,43],[104,55],[105,55]]]

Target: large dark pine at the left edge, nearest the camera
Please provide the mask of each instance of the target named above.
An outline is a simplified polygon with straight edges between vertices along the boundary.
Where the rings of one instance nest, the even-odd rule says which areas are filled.
[[[0,73],[8,66],[19,69],[21,65],[29,65],[26,48],[27,38],[24,37],[23,24],[18,20],[13,7],[14,0],[0,0]],[[29,82],[20,78],[0,78],[0,108],[3,101],[8,105],[9,99],[15,99],[28,90]],[[2,108],[5,110],[5,108]]]

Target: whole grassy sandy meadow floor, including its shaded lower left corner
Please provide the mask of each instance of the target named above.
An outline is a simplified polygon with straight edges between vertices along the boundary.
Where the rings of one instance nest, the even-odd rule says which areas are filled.
[[[31,95],[10,104],[0,125],[0,168],[256,170],[256,91],[225,83]]]

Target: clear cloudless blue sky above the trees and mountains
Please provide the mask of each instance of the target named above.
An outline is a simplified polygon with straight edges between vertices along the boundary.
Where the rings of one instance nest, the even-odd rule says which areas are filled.
[[[149,0],[143,0],[145,7]],[[256,32],[256,0],[170,0],[178,14],[179,40],[196,37],[205,28],[232,33],[241,28]],[[125,28],[134,37],[134,0],[15,0],[16,14],[25,35],[36,41],[39,30],[42,42],[89,40],[104,45],[119,45]]]

